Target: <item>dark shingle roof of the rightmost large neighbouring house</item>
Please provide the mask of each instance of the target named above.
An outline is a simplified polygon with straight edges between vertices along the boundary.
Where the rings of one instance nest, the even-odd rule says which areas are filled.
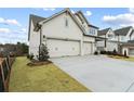
[[[116,29],[115,34],[120,35],[120,36],[126,36],[131,28],[132,28],[132,26]]]

